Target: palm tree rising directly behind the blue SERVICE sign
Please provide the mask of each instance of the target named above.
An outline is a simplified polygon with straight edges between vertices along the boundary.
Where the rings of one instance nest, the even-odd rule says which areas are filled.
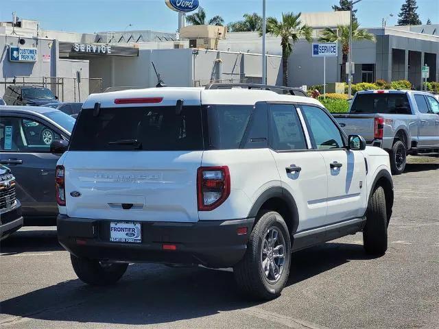
[[[359,29],[359,23],[352,22],[352,40],[361,41],[368,40],[375,42],[377,39],[374,34],[367,32],[366,29]],[[320,42],[340,42],[342,45],[342,79],[346,76],[346,62],[348,62],[349,53],[349,25],[338,25],[337,29],[327,27],[323,30]]]

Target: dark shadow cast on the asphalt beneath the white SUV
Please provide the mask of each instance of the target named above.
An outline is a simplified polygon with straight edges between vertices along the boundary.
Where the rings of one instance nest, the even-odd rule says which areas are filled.
[[[350,260],[368,259],[361,245],[325,243],[294,254],[288,285],[307,280]],[[171,269],[163,265],[132,265],[112,287],[90,287],[69,280],[0,304],[0,313],[49,321],[104,324],[163,324],[248,308],[228,270]]]

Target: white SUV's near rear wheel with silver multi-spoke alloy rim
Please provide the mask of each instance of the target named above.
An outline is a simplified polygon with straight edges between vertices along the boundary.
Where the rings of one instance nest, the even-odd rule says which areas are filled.
[[[255,224],[244,258],[233,272],[239,289],[258,300],[281,294],[288,280],[291,239],[278,212],[264,212]]]

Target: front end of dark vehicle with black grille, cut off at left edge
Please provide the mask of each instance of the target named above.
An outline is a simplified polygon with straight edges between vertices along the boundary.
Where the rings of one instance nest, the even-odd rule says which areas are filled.
[[[15,178],[8,167],[0,164],[0,241],[23,226],[21,204],[16,199]]]

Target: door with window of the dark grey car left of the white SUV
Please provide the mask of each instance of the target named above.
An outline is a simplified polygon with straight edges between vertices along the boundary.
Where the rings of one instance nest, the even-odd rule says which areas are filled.
[[[40,118],[24,114],[0,117],[0,163],[15,175],[25,217],[58,213],[54,175],[60,155],[50,153],[50,143],[61,138],[56,127]]]

